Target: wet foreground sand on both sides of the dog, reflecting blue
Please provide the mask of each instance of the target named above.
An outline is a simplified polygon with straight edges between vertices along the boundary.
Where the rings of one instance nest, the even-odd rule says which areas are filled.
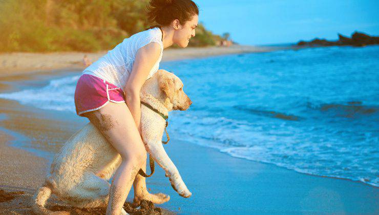
[[[49,141],[45,139],[49,136],[56,142],[50,149],[53,152],[87,123],[86,119],[70,112],[62,114],[20,105],[17,101],[1,101],[5,105],[0,112],[8,118],[2,117],[0,126],[16,130],[14,135],[24,135],[40,144]],[[15,107],[16,110],[12,111]],[[32,117],[23,118],[19,116],[20,113]],[[60,122],[59,126],[57,122]],[[20,123],[26,126],[19,126]],[[3,160],[0,168],[7,170],[4,172],[7,175],[0,175],[0,189],[23,193],[14,195],[16,198],[12,201],[0,202],[0,213],[30,213],[30,200],[35,189],[43,183],[45,171],[49,167],[49,156],[41,158],[24,148],[13,147],[12,141],[20,141],[17,139],[19,137],[6,136],[8,139],[4,139],[4,130],[0,130],[0,138],[6,140],[0,144],[0,157]],[[184,199],[177,195],[160,167],[156,168],[154,177],[146,182],[151,192],[163,192],[171,196],[169,202],[157,206],[175,213],[375,213],[379,210],[376,203],[379,190],[367,184],[314,177],[274,164],[235,158],[215,148],[177,140],[176,137],[172,137],[165,149],[193,196]],[[127,200],[133,200],[132,192]],[[48,200],[47,207],[51,210],[57,205],[78,212],[65,206],[56,197]]]

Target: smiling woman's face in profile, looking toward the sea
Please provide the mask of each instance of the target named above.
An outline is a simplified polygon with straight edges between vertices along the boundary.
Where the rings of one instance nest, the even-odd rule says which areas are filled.
[[[184,25],[178,24],[178,29],[175,30],[173,37],[174,44],[181,48],[188,46],[189,39],[195,36],[195,28],[197,27],[199,16],[194,15],[191,20],[187,21]]]

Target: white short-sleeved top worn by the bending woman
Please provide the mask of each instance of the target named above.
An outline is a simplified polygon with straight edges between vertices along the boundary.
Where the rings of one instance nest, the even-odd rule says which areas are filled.
[[[158,27],[139,32],[124,39],[114,49],[108,51],[106,55],[87,67],[82,74],[94,75],[124,89],[132,73],[138,49],[148,45],[150,42],[157,42],[161,47],[160,56],[147,77],[150,78],[158,71],[159,62],[163,54],[162,32]]]

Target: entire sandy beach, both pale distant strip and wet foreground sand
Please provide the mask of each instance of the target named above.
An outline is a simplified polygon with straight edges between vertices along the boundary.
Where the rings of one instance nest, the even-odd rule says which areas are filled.
[[[243,46],[170,49],[165,51],[163,60],[272,49]],[[84,54],[94,61],[104,52],[1,54],[0,91],[43,86],[54,77],[80,74]],[[54,153],[88,120],[71,112],[41,110],[13,100],[0,99],[0,102],[0,189],[4,190],[0,192],[0,213],[31,214],[31,197],[43,183]],[[151,192],[171,196],[169,202],[159,206],[166,213],[379,213],[376,187],[300,174],[271,164],[234,158],[213,148],[180,141],[179,137],[171,138],[170,144],[165,146],[166,152],[193,196],[189,199],[180,197],[157,166],[155,175],[146,181]],[[132,201],[132,198],[131,191],[127,200]],[[48,200],[47,208],[63,208],[71,214],[101,213],[72,208],[54,196]]]

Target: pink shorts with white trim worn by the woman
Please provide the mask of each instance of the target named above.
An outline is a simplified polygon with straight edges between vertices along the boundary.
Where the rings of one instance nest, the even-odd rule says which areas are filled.
[[[124,92],[116,85],[93,75],[80,76],[75,89],[76,114],[99,110],[110,101],[125,102]]]

